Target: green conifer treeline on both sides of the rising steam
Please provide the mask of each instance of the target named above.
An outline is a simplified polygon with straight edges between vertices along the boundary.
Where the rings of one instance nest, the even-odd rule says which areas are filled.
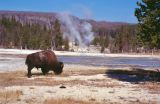
[[[101,47],[101,52],[137,52],[136,25],[122,25],[116,29],[93,28],[95,39],[91,44]],[[63,31],[58,20],[50,28],[40,24],[22,24],[3,17],[0,19],[0,47],[21,49],[68,50],[69,41],[63,39]]]

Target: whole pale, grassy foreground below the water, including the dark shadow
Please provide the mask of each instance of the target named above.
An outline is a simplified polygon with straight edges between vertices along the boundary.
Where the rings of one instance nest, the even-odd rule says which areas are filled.
[[[160,104],[156,71],[65,65],[58,76],[32,73],[1,72],[0,104]]]

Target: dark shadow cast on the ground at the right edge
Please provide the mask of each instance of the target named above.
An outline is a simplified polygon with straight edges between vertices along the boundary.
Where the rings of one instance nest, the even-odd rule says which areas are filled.
[[[160,72],[133,68],[131,70],[109,69],[105,72],[106,76],[120,81],[131,83],[157,81],[160,82]]]

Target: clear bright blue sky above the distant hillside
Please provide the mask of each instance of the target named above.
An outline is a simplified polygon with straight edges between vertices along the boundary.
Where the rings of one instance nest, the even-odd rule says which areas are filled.
[[[83,19],[137,23],[137,1],[140,0],[0,0],[0,10],[68,12]]]

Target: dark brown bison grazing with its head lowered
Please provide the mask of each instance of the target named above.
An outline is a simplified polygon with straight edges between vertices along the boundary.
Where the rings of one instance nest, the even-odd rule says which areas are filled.
[[[31,77],[31,70],[34,67],[41,68],[43,75],[45,75],[50,70],[54,71],[55,74],[61,74],[64,66],[63,62],[59,62],[51,50],[29,54],[25,63],[28,66],[28,77]]]

